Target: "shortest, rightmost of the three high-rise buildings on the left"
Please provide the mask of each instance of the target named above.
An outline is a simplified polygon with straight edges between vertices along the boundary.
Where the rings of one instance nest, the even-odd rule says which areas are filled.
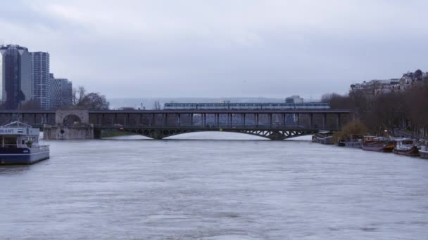
[[[73,86],[68,79],[56,79],[50,74],[51,107],[68,107],[72,105]]]

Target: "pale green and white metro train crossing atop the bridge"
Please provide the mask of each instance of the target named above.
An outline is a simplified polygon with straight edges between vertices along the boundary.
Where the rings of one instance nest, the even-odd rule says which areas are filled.
[[[329,109],[328,103],[322,102],[215,102],[215,103],[165,103],[163,109]]]

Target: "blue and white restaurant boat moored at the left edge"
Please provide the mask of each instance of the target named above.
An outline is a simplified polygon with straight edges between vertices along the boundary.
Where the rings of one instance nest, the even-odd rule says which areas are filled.
[[[39,128],[20,121],[0,127],[0,164],[34,164],[49,159],[49,146],[39,145]]]

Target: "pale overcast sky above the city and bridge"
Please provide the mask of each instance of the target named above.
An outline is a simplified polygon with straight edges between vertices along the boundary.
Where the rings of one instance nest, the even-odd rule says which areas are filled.
[[[320,98],[428,71],[426,0],[6,1],[0,41],[108,98]]]

